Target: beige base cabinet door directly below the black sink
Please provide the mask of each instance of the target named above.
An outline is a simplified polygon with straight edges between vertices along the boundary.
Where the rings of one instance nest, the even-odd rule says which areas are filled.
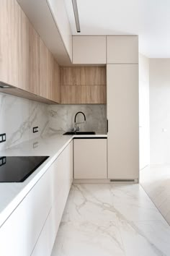
[[[107,179],[107,138],[73,140],[74,179]]]

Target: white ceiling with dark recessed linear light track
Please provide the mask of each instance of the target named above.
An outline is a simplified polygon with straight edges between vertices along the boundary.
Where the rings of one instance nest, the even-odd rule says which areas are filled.
[[[139,35],[142,54],[170,58],[170,0],[77,0],[81,33],[65,2],[73,35]]]

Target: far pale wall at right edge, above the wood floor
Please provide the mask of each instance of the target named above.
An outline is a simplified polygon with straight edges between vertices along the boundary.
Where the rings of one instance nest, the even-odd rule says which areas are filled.
[[[151,164],[170,163],[170,59],[150,59]]]

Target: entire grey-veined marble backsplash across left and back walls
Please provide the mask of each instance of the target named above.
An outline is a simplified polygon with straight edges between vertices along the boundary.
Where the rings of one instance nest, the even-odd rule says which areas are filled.
[[[71,130],[78,111],[86,115],[86,123],[79,125],[81,131],[106,133],[105,105],[47,105],[0,93],[0,134],[6,133],[6,142],[0,143],[0,150]],[[77,116],[77,121],[83,120],[81,114]],[[32,128],[37,126],[39,132],[33,133]]]

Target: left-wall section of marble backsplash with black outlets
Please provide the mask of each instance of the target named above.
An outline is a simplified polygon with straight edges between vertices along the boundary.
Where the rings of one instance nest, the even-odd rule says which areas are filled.
[[[6,133],[6,142],[0,143],[0,150],[44,134],[48,122],[48,105],[0,93],[0,133]],[[33,134],[35,126],[39,132]]]

